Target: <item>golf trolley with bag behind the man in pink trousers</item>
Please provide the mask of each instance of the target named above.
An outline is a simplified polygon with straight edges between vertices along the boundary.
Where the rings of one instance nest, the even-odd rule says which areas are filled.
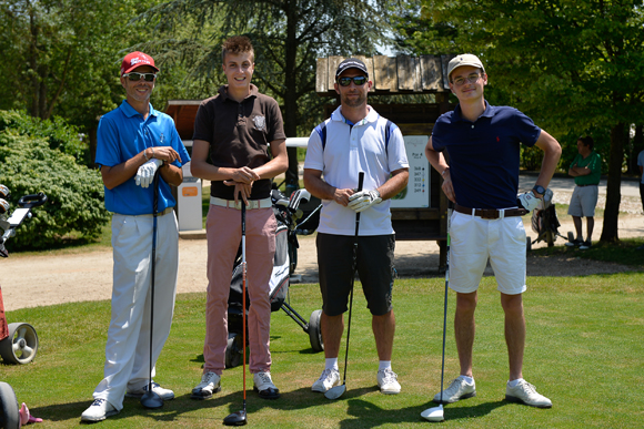
[[[304,213],[300,206],[310,203],[313,198],[306,190],[295,191],[290,198],[286,198],[279,190],[272,190],[271,201],[273,213],[278,221],[275,229],[275,257],[273,261],[273,272],[270,279],[269,299],[271,302],[271,311],[282,309],[291,317],[304,333],[309,335],[311,348],[314,351],[324,350],[322,341],[322,330],[320,327],[320,317],[322,310],[318,309],[311,314],[306,321],[291,305],[289,295],[289,284],[291,275],[298,265],[298,221],[303,217]],[[315,207],[319,216],[319,207]],[[311,234],[318,227],[314,224],[315,213],[305,217],[308,222],[308,234]],[[304,223],[304,221],[303,221]],[[301,229],[300,229],[301,231]],[[246,292],[246,314],[250,307],[250,299]],[[225,367],[233,368],[241,365],[242,359],[242,264],[241,247],[235,258],[230,295],[228,299],[228,347],[225,349]]]

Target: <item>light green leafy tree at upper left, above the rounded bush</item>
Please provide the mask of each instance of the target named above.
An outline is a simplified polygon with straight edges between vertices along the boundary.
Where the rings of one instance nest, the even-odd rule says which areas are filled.
[[[120,59],[149,37],[128,22],[150,6],[120,0],[0,0],[0,109],[62,116],[93,140],[119,105]],[[82,160],[91,164],[91,160]]]

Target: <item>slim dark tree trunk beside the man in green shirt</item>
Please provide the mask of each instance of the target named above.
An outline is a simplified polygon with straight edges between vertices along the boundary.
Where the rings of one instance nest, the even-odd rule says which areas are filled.
[[[626,125],[618,123],[611,129],[611,153],[608,156],[608,183],[606,186],[606,206],[604,208],[604,226],[602,242],[616,242],[617,218],[620,216],[620,203],[622,194],[622,163],[624,161],[624,141],[626,139]]]

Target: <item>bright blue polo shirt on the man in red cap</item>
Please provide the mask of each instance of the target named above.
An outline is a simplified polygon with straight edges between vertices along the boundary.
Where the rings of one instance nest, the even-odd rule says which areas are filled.
[[[127,100],[110,113],[101,118],[97,132],[97,157],[99,165],[119,165],[147,147],[172,146],[179,153],[181,163],[172,165],[181,167],[190,161],[190,156],[179,137],[172,118],[159,112],[150,104],[150,114],[144,120]],[[134,176],[114,187],[105,187],[105,208],[124,215],[142,215],[153,213],[154,187],[138,186]],[[172,196],[170,185],[160,178],[159,206],[162,212],[173,207],[177,202]]]

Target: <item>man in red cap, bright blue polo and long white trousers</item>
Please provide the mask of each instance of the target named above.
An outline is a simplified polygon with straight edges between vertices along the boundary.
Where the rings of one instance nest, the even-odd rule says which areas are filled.
[[[179,232],[170,185],[183,182],[181,165],[190,157],[172,118],[150,104],[157,72],[152,57],[142,52],[132,52],[123,59],[121,84],[125,100],[101,118],[97,133],[95,162],[101,166],[105,185],[105,208],[113,213],[114,278],[104,378],[94,390],[94,401],[81,416],[84,421],[104,420],[123,408],[125,395],[145,394],[172,324]],[[158,190],[153,185],[155,174],[160,174]],[[155,208],[154,200],[158,200]],[[154,330],[150,359],[154,217]],[[163,400],[174,398],[172,390],[157,382],[151,385]]]

